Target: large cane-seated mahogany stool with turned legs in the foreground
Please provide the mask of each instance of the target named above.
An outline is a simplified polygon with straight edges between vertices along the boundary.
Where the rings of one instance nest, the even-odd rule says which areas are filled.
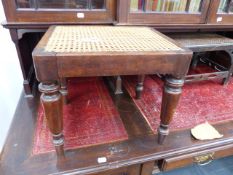
[[[147,27],[50,27],[34,49],[33,61],[57,154],[64,155],[64,78],[168,74],[158,128],[158,141],[162,143],[168,135],[191,57],[191,51]]]

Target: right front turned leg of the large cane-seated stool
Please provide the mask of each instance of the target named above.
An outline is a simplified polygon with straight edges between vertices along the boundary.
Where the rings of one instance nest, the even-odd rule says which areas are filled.
[[[181,87],[183,85],[183,79],[166,77],[160,114],[161,122],[158,128],[159,144],[162,144],[164,142],[165,137],[169,133],[168,127],[175,113],[181,95]]]

